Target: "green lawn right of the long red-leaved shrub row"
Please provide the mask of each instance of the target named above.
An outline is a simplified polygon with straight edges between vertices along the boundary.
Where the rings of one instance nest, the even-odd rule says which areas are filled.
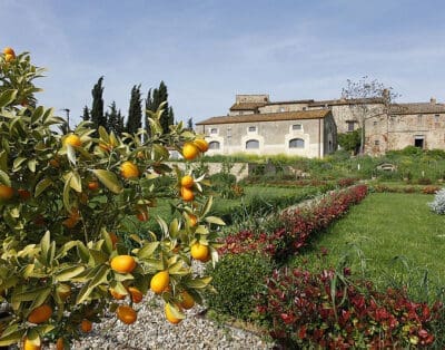
[[[445,217],[429,211],[432,201],[433,195],[370,194],[317,234],[291,264],[310,264],[326,247],[325,266],[346,257],[354,272],[380,288],[405,284],[413,296],[432,298],[445,286]]]

